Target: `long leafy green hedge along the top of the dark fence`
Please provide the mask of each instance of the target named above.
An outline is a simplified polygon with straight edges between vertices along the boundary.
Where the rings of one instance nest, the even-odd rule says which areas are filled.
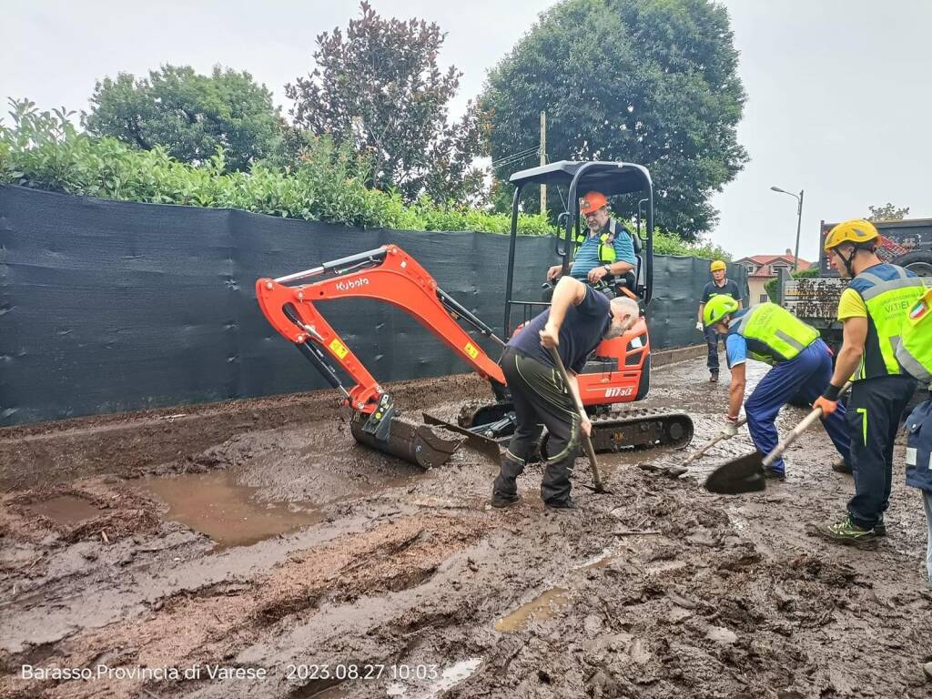
[[[296,167],[254,164],[248,172],[224,170],[223,153],[190,165],[162,148],[139,150],[114,138],[75,129],[62,110],[39,112],[34,103],[10,101],[12,125],[0,123],[0,183],[66,194],[157,204],[241,209],[282,218],[400,230],[476,230],[507,233],[511,216],[427,198],[405,206],[396,192],[369,189],[368,163],[330,139],[309,139]],[[549,235],[541,214],[520,214],[518,230]],[[657,230],[654,250],[731,259],[718,247],[687,243]]]

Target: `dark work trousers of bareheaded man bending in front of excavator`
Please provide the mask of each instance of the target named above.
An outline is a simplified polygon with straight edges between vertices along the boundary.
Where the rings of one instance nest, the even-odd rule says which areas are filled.
[[[543,427],[546,427],[549,458],[544,465],[541,499],[550,504],[566,502],[573,461],[579,453],[581,422],[569,395],[569,387],[564,386],[556,369],[510,347],[502,353],[500,364],[512,391],[517,426],[508,450],[501,458],[494,495],[500,498],[517,495],[515,479],[524,473],[525,463],[531,457]]]

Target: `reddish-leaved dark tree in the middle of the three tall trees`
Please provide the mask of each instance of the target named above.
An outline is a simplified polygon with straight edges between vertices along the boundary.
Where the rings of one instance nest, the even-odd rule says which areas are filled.
[[[423,20],[383,19],[365,2],[361,10],[346,34],[320,34],[314,70],[285,86],[295,126],[348,141],[372,163],[373,184],[398,187],[407,200],[476,199],[485,123],[472,103],[459,122],[447,121],[462,74],[437,64],[445,34]]]

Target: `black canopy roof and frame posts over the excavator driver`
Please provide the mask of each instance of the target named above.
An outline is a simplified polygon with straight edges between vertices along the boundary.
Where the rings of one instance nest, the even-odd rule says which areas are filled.
[[[635,163],[605,160],[559,160],[537,168],[514,172],[509,182],[514,185],[514,197],[512,199],[511,240],[508,245],[508,271],[505,280],[505,313],[502,322],[505,337],[511,336],[514,331],[512,311],[515,307],[523,309],[522,321],[526,321],[528,316],[535,314],[534,311],[540,312],[549,305],[545,301],[515,300],[514,298],[514,257],[518,234],[518,212],[522,192],[528,185],[552,185],[569,189],[567,199],[569,215],[560,216],[563,229],[555,242],[555,253],[562,260],[563,274],[569,270],[569,262],[575,251],[574,240],[581,230],[580,195],[592,190],[599,191],[606,197],[644,192],[645,196],[638,202],[638,232],[632,234],[637,254],[636,288],[632,291],[641,299],[644,306],[650,304],[653,294],[653,182],[647,168]],[[645,229],[647,236],[643,240],[639,236],[639,213],[642,203],[647,204]]]

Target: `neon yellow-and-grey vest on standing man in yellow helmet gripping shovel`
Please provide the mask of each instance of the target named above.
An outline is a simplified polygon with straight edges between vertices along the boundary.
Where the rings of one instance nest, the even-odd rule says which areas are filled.
[[[853,377],[856,381],[903,373],[897,361],[897,347],[906,314],[923,288],[923,281],[908,276],[902,267],[888,267],[896,271],[896,279],[884,280],[866,271],[849,284],[868,308],[868,336],[864,342],[864,356]],[[861,288],[865,282],[870,286]]]

